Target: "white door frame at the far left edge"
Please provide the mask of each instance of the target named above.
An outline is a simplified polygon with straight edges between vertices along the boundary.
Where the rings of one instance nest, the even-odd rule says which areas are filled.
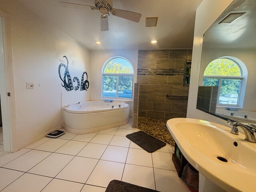
[[[14,65],[12,58],[12,39],[10,15],[0,10],[2,18],[2,36],[3,36],[3,61],[1,64],[3,76],[0,77],[0,94],[2,108],[2,124],[4,137],[4,151],[18,151],[18,137],[16,124],[16,104],[15,104],[15,86],[14,86]],[[1,53],[0,53],[1,54]],[[10,93],[10,96],[8,96]]]

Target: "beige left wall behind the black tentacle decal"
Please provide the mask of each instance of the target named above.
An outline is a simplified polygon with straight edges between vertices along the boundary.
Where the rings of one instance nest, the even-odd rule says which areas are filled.
[[[58,76],[60,62],[66,64],[65,55],[71,77],[81,80],[86,71],[90,82],[89,52],[18,1],[1,0],[0,9],[10,15],[17,122],[14,139],[18,148],[23,148],[62,127],[61,106],[89,100],[90,91],[67,92]],[[26,89],[26,82],[33,82],[34,89]]]

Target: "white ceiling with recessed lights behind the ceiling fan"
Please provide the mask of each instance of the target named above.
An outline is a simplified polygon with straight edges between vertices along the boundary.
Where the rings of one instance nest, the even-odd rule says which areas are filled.
[[[113,0],[113,7],[142,14],[140,22],[113,15],[109,31],[100,31],[100,13],[64,8],[59,0],[19,0],[41,18],[89,50],[192,48],[196,8],[202,0]],[[94,0],[63,0],[94,6]],[[158,17],[156,27],[145,27],[146,17]],[[156,39],[157,44],[150,43]],[[102,42],[101,45],[96,41]]]

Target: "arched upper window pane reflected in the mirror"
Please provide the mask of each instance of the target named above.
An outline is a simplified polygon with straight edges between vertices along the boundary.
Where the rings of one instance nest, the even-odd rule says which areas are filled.
[[[242,76],[238,65],[229,59],[216,59],[208,64],[204,75],[214,76]]]

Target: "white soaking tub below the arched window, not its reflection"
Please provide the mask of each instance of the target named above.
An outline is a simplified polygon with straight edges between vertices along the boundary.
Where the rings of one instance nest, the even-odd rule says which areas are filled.
[[[73,134],[86,134],[125,125],[129,108],[126,103],[101,101],[62,107],[63,127]]]

